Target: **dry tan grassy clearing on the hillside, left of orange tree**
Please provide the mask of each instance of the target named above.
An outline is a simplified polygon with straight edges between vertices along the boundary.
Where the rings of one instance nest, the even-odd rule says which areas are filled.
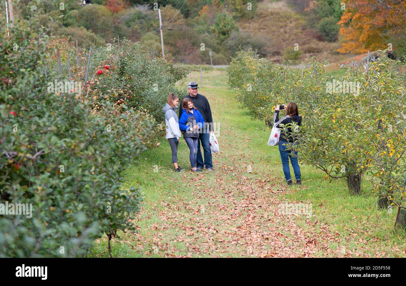
[[[268,43],[268,58],[281,62],[282,58],[306,62],[315,56],[317,60],[339,61],[347,54],[339,54],[338,42],[321,41],[320,34],[306,23],[306,12],[298,13],[285,0],[262,1],[258,4],[253,19],[243,19],[239,23],[240,33],[250,34]],[[295,44],[298,53],[294,53]]]

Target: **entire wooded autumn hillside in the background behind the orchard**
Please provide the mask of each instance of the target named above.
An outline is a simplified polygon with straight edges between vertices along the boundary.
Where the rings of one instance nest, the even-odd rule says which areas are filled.
[[[257,50],[261,57],[278,63],[284,58],[297,65],[311,57],[341,63],[367,50],[385,49],[387,43],[393,43],[394,57],[400,59],[406,54],[406,23],[393,9],[402,11],[404,4],[395,1],[391,7],[397,6],[389,9],[371,1],[372,9],[365,10],[360,0],[346,1],[347,9],[340,0],[163,0],[156,4],[67,0],[63,6],[51,0],[39,4],[23,0],[15,4],[14,13],[28,19],[30,11],[38,9],[48,34],[70,39],[71,45],[77,41],[87,49],[127,38],[161,56],[160,9],[165,56],[184,64],[210,64],[212,52],[214,65],[227,65],[240,48]],[[352,17],[357,26],[351,26]],[[379,34],[382,28],[387,31],[384,35]]]

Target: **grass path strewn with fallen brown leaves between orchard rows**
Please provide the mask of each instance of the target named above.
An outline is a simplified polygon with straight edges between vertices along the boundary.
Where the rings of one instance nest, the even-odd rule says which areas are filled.
[[[203,75],[199,92],[220,127],[214,172],[173,172],[164,139],[143,153],[125,174],[126,187],[142,187],[138,230],[119,234],[114,257],[405,256],[404,236],[393,231],[395,212],[376,210],[374,196],[350,196],[344,180],[330,182],[311,166],[301,166],[300,187],[288,187],[277,146],[266,144],[270,131],[238,109],[225,70],[205,68]],[[178,159],[190,169],[183,139]],[[311,203],[313,215],[283,215],[285,202]],[[106,245],[97,240],[91,256],[107,257]]]

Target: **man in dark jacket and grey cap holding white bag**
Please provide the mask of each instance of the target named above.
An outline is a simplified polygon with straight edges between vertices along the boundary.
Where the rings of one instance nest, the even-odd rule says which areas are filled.
[[[212,151],[210,150],[209,132],[213,132],[212,110],[210,109],[210,104],[207,98],[204,95],[197,93],[197,88],[198,87],[196,82],[189,82],[188,84],[189,94],[186,95],[186,97],[184,98],[190,98],[193,101],[194,107],[197,110],[199,110],[205,122],[203,132],[200,133],[199,135],[199,144],[197,145],[197,162],[196,162],[197,168],[203,169],[204,166],[206,166],[207,171],[211,172],[213,168],[213,161],[212,161]],[[180,103],[180,106],[182,106],[182,102]],[[179,118],[181,116],[182,116],[182,108],[179,108]],[[204,162],[202,153],[200,151],[200,143],[203,146]]]

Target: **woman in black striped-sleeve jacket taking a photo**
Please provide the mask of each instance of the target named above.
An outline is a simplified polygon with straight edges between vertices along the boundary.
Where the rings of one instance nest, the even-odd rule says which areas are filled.
[[[289,102],[288,105],[284,106],[283,110],[286,110],[286,116],[283,116],[281,119],[279,119],[279,104],[276,105],[274,113],[274,124],[277,128],[281,128],[281,136],[279,140],[279,153],[281,153],[283,174],[285,174],[287,184],[292,185],[292,179],[290,177],[290,169],[289,169],[289,158],[290,158],[290,163],[292,164],[293,171],[296,177],[296,184],[300,185],[301,179],[300,179],[300,167],[298,163],[298,152],[294,151],[298,142],[297,138],[294,138],[294,135],[292,133],[292,125],[293,125],[292,122],[295,122],[297,125],[302,124],[302,116],[299,114],[298,105],[296,105],[296,103],[294,102]],[[286,129],[286,132],[284,131],[284,129]],[[289,143],[292,144],[294,156],[292,155],[291,151],[286,150],[286,145],[284,145]]]

